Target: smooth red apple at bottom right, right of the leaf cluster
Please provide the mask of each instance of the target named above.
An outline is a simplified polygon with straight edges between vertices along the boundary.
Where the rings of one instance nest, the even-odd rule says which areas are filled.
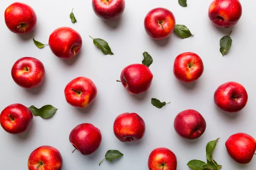
[[[256,141],[246,133],[236,133],[227,139],[226,148],[232,159],[239,164],[247,164],[256,151]]]

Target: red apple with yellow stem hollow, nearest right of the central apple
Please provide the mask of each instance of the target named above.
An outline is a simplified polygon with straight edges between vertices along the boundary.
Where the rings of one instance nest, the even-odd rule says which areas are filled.
[[[203,72],[204,63],[195,53],[182,53],[174,61],[173,74],[182,83],[194,82],[201,77]]]

